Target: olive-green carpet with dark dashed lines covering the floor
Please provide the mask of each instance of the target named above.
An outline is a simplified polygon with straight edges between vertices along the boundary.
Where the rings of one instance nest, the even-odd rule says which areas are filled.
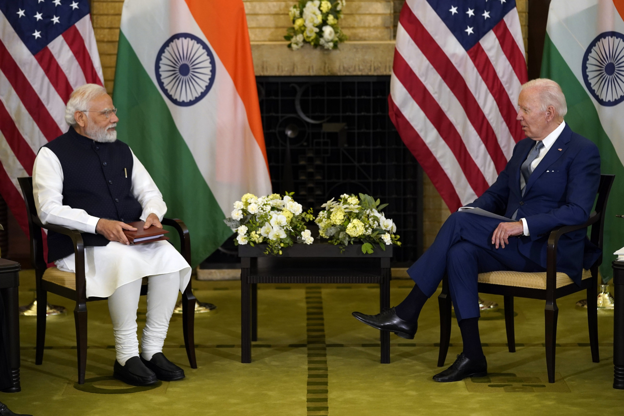
[[[34,296],[32,271],[22,271],[21,285],[20,304],[27,304]],[[173,316],[164,353],[183,367],[185,379],[149,388],[112,379],[112,327],[100,301],[88,304],[87,382],[77,385],[74,304],[51,295],[51,303],[69,312],[48,318],[42,365],[34,364],[35,318],[20,317],[22,392],[0,394],[0,401],[35,416],[622,414],[624,390],[612,389],[613,314],[599,313],[602,361],[593,363],[587,312],[575,308],[583,294],[558,301],[557,383],[545,380],[544,302],[517,298],[517,352],[505,346],[502,313],[488,312],[479,325],[492,374],[439,384],[431,380],[441,370],[435,298],[422,311],[416,339],[392,334],[391,364],[380,364],[379,332],[351,317],[378,310],[375,286],[259,285],[258,342],[253,362],[241,364],[240,284],[193,286],[198,299],[218,309],[196,317],[198,369],[188,367],[182,316]],[[391,304],[411,287],[411,281],[392,281]],[[485,297],[502,304],[502,297]],[[140,329],[145,297],[139,311]],[[456,321],[452,331],[446,365],[462,348]]]

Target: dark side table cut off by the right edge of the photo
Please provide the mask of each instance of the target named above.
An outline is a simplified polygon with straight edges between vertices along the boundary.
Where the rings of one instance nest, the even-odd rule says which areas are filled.
[[[613,261],[613,389],[624,390],[624,262]]]

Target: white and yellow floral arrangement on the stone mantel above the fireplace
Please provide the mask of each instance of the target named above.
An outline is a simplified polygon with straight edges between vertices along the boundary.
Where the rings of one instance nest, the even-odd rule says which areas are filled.
[[[338,26],[338,19],[343,17],[342,9],[346,0],[299,0],[290,7],[288,16],[293,27],[286,29],[284,36],[290,41],[288,47],[296,51],[308,42],[314,47],[338,49],[338,44],[347,40],[347,36]]]

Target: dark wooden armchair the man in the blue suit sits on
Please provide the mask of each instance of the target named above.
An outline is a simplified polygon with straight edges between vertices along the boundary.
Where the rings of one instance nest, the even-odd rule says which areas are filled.
[[[565,273],[557,272],[557,243],[559,238],[571,231],[592,227],[590,240],[602,249],[603,227],[605,211],[611,186],[615,175],[600,175],[596,208],[589,220],[581,225],[562,226],[550,231],[548,237],[548,258],[546,271],[541,273],[522,273],[515,271],[492,271],[479,274],[479,293],[500,294],[504,296],[505,329],[507,330],[507,345],[509,352],[515,352],[514,334],[514,296],[542,299],[546,301],[545,336],[546,336],[546,365],[548,382],[555,382],[555,346],[557,339],[557,299],[578,291],[587,290],[587,321],[589,325],[589,339],[593,362],[599,362],[598,357],[598,312],[597,288],[598,266],[602,264],[602,256],[589,270],[583,270],[580,286],[572,281]],[[447,278],[442,280],[442,293],[438,296],[440,307],[440,351],[437,360],[438,367],[444,366],[444,360],[449,349],[451,339],[451,296]]]

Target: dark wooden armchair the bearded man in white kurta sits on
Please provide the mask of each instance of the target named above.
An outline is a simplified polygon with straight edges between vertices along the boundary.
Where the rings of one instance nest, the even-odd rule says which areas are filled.
[[[84,243],[79,231],[69,228],[46,224],[43,225],[35,207],[32,195],[32,178],[18,178],[22,188],[31,243],[31,261],[34,264],[37,284],[37,346],[35,364],[42,364],[44,344],[46,341],[46,304],[47,293],[51,292],[59,296],[67,297],[76,301],[74,319],[76,321],[76,346],[78,356],[78,384],[84,384],[85,370],[87,367],[87,302],[101,301],[105,297],[87,297],[86,282],[84,275]],[[188,228],[180,220],[163,218],[162,225],[172,226],[180,236],[180,252],[190,264],[190,237]],[[56,267],[47,268],[43,257],[43,237],[41,229],[56,231],[69,236],[74,243],[76,254],[76,273],[60,271]],[[141,294],[147,294],[147,284],[142,285]],[[197,368],[195,359],[195,296],[191,292],[191,283],[182,293],[182,326],[184,345],[187,349],[188,362],[191,368]]]

